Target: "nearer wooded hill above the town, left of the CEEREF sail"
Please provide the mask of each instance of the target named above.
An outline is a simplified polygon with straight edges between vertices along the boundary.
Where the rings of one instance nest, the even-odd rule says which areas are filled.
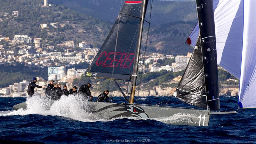
[[[18,11],[19,15],[12,16],[12,11]],[[5,13],[9,14],[4,16]],[[40,27],[40,24],[50,23],[57,23],[57,28]],[[44,7],[42,0],[0,1],[0,35],[10,36],[11,39],[13,35],[28,35],[42,38],[43,44],[73,40],[101,45],[110,28],[108,22],[76,12],[64,5],[52,4],[51,7]]]

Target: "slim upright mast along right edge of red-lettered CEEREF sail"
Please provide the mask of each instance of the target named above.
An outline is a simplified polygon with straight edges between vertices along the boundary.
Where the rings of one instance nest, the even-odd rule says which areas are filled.
[[[138,66],[139,66],[139,58],[140,58],[140,47],[141,47],[141,38],[142,38],[142,31],[143,31],[143,23],[145,19],[146,7],[148,4],[148,0],[142,0],[141,4],[141,11],[140,11],[140,26],[139,26],[139,36],[136,46],[136,55],[134,59],[134,67],[132,71],[132,95],[130,96],[129,103],[133,103],[134,95],[135,95],[135,87],[136,87],[136,80],[138,74]]]

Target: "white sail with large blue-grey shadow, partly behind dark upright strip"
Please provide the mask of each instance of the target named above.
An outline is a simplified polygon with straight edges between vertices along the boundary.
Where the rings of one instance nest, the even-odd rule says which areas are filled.
[[[236,78],[240,78],[243,40],[243,0],[214,0],[217,62]],[[189,38],[195,46],[198,25]]]

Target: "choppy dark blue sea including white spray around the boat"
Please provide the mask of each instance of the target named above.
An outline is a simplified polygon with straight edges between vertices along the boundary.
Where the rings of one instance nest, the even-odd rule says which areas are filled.
[[[192,107],[168,96],[135,98],[135,103],[156,104],[169,99],[172,104],[168,106]],[[28,109],[13,110],[13,105],[25,100],[0,98],[0,143],[256,143],[255,109],[237,110],[237,97],[221,96],[221,111],[237,113],[211,115],[207,127],[173,125],[183,120],[180,115],[95,121],[76,96],[62,96],[53,104],[35,96],[27,99]],[[114,97],[112,102],[125,100]]]

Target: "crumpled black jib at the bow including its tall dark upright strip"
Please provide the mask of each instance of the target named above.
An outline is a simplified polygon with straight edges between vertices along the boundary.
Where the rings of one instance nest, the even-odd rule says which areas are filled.
[[[196,0],[196,8],[200,30],[198,41],[173,95],[199,108],[219,110],[213,1]]]

